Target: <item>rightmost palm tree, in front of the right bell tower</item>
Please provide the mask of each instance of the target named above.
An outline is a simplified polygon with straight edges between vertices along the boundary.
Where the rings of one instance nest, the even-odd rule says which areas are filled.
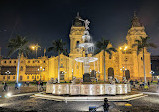
[[[135,44],[132,45],[132,47],[137,46],[137,55],[140,53],[140,51],[142,51],[143,53],[143,68],[144,68],[144,82],[146,83],[146,71],[145,71],[145,50],[148,47],[153,47],[156,48],[156,45],[154,45],[153,43],[149,43],[148,39],[150,39],[150,37],[141,37],[140,39],[135,40]]]

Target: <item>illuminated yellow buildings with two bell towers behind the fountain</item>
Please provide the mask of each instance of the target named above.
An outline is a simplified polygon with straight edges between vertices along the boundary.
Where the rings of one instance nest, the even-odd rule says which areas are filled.
[[[77,79],[83,78],[84,68],[83,63],[76,62],[76,57],[83,57],[84,51],[78,48],[78,44],[82,43],[82,35],[85,30],[83,23],[77,16],[70,31],[70,54],[69,57],[63,54],[60,55],[60,79],[61,81],[70,81],[72,77]],[[118,52],[113,52],[110,57],[105,53],[105,67],[106,67],[106,79],[109,76],[113,76],[118,79],[122,79],[123,75],[128,79],[144,79],[142,52],[137,54],[136,48],[132,48],[135,43],[134,40],[140,39],[139,37],[146,37],[145,28],[139,22],[139,19],[134,15],[132,19],[131,28],[128,30],[125,43],[120,48],[117,48]],[[109,44],[109,47],[112,45]],[[92,56],[92,54],[89,54]],[[104,80],[104,61],[103,51],[96,54],[97,61],[90,63],[90,74],[95,76],[98,80]],[[15,81],[16,80],[16,66],[17,59],[1,59],[0,61],[0,81]],[[151,65],[150,65],[150,53],[145,49],[145,65],[146,76],[151,79]],[[41,70],[38,70],[40,69]],[[7,75],[5,72],[9,70],[11,73]],[[7,78],[8,76],[8,78]],[[51,78],[58,78],[58,56],[52,56],[50,58],[43,56],[38,59],[28,59],[24,56],[21,57],[20,62],[20,81],[33,81],[40,80],[48,81]]]

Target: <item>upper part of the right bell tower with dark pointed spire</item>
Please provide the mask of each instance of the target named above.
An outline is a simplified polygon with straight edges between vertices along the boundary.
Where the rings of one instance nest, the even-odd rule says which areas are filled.
[[[139,18],[136,16],[134,12],[134,17],[131,21],[131,28],[128,30],[126,39],[128,46],[132,47],[135,43],[135,40],[139,39],[140,37],[146,37],[145,27],[140,23]]]

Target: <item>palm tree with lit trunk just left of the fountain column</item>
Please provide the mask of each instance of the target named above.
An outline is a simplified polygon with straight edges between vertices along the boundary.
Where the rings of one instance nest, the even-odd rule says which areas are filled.
[[[58,83],[60,83],[60,54],[65,51],[64,46],[66,45],[62,39],[58,39],[52,42],[52,46],[48,48],[48,52],[54,51],[58,53]]]

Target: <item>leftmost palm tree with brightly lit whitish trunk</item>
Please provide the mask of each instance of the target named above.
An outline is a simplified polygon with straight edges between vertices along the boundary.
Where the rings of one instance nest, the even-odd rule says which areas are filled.
[[[20,58],[21,55],[28,55],[30,52],[29,47],[27,46],[28,40],[26,40],[25,37],[22,37],[20,35],[17,35],[16,38],[10,39],[8,43],[9,48],[9,54],[8,56],[11,56],[15,52],[18,52],[18,66],[17,66],[17,80],[18,83],[19,79],[19,67],[20,67]]]

